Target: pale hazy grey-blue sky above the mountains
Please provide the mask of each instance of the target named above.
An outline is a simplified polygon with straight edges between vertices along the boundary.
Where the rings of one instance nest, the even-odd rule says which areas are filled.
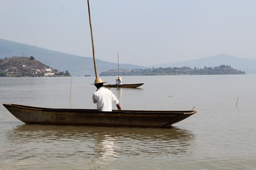
[[[90,9],[103,61],[256,58],[254,0],[90,0]],[[87,0],[0,0],[0,38],[92,57],[90,36]]]

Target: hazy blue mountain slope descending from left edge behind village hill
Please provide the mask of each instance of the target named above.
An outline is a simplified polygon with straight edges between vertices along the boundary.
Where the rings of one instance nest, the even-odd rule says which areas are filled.
[[[22,56],[25,54],[24,56]],[[33,45],[17,43],[0,39],[0,58],[10,57],[30,57],[49,65],[60,71],[68,70],[74,76],[92,75],[94,76],[94,64],[92,57],[80,57],[72,54],[66,54],[47,50]],[[98,74],[102,71],[116,69],[117,63],[106,62],[96,59]],[[133,64],[119,64],[123,69],[145,68]]]

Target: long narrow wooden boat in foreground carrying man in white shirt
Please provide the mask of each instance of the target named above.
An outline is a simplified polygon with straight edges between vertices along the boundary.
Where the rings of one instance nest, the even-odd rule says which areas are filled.
[[[146,111],[95,109],[53,109],[5,103],[16,118],[26,124],[101,127],[164,128],[195,114],[197,111]]]

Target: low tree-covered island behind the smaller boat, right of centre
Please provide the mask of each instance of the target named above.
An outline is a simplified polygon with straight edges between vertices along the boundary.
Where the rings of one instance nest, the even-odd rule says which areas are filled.
[[[245,71],[237,70],[229,65],[220,65],[217,67],[190,68],[167,67],[167,68],[145,68],[145,69],[119,69],[119,75],[122,76],[164,76],[164,75],[245,75]],[[116,76],[118,70],[112,69],[104,71],[99,76]]]

